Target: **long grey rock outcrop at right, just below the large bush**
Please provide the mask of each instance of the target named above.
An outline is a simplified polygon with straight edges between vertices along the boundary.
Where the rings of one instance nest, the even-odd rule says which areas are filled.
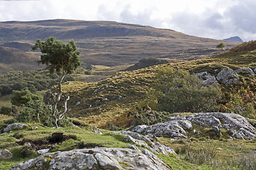
[[[242,139],[255,139],[256,130],[247,119],[235,113],[194,113],[186,117],[171,118],[169,122],[155,125],[138,125],[132,132],[153,134],[164,137],[185,137],[186,130],[193,128],[192,123],[211,127],[215,132],[230,130],[232,136]]]

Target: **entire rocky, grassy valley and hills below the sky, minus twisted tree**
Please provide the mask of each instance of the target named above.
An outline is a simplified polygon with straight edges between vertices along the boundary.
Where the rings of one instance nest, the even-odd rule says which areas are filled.
[[[255,169],[256,41],[110,21],[0,30],[1,169]],[[60,128],[45,96],[60,74],[33,65],[41,53],[29,51],[50,36],[81,51],[63,82],[70,100]],[[13,90],[27,103],[14,105]]]

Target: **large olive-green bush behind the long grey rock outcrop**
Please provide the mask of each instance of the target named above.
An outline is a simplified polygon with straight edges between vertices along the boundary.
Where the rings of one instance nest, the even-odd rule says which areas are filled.
[[[156,74],[154,96],[157,111],[201,112],[218,110],[218,86],[203,86],[201,79],[188,72],[161,68]]]

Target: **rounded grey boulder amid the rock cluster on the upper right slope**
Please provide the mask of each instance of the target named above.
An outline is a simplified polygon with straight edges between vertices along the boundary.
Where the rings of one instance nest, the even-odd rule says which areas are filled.
[[[225,86],[230,86],[231,84],[239,81],[238,73],[235,72],[233,69],[230,69],[230,68],[226,68],[226,69],[221,70],[218,73],[216,79],[218,81],[223,81]]]

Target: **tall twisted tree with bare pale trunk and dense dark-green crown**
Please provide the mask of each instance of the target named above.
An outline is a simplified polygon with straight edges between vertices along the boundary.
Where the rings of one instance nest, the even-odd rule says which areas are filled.
[[[58,91],[57,94],[52,94],[53,97],[53,111],[52,114],[55,117],[55,125],[58,128],[58,121],[61,120],[64,114],[68,111],[67,102],[70,96],[66,95],[64,102],[64,110],[58,110],[58,103],[63,95],[62,83],[67,74],[72,74],[81,65],[79,61],[80,52],[77,51],[75,42],[70,40],[67,44],[64,44],[60,40],[56,40],[53,37],[47,38],[45,41],[36,40],[36,44],[33,45],[32,50],[40,49],[43,55],[41,60],[38,60],[38,64],[46,64],[46,68],[50,71],[50,74],[54,72],[60,72],[58,79]]]

